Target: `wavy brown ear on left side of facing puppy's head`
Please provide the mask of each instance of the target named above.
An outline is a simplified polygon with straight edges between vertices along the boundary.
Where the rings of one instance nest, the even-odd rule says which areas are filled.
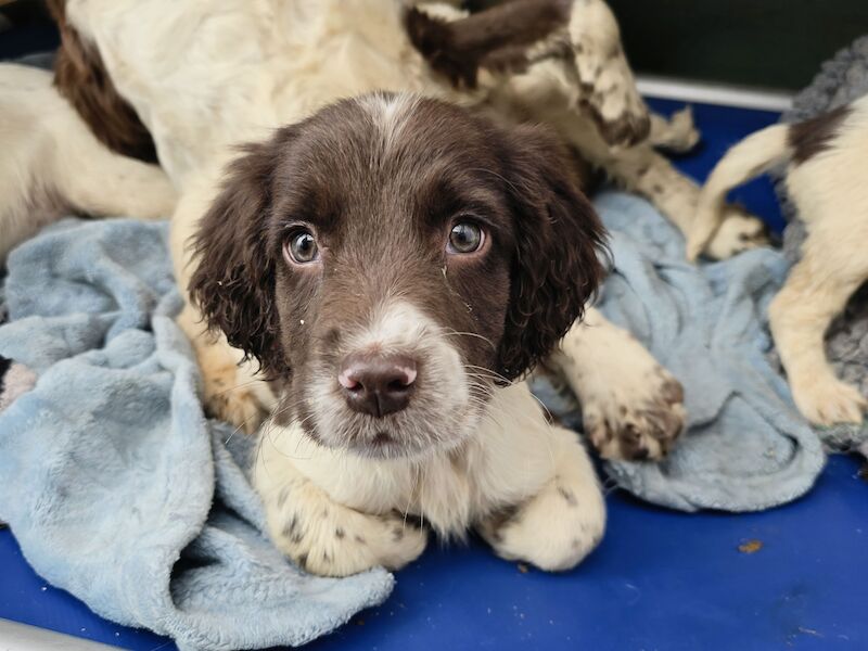
[[[224,188],[192,239],[196,269],[189,285],[208,327],[256,358],[268,375],[284,370],[268,239],[281,136],[245,146],[229,165]]]

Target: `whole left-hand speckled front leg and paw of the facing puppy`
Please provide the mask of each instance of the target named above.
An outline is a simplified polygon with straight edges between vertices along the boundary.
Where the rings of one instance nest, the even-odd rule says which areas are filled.
[[[422,553],[424,529],[397,512],[372,514],[345,507],[303,474],[288,450],[297,447],[297,456],[306,457],[310,448],[277,445],[276,437],[285,432],[264,425],[253,475],[269,536],[280,551],[322,576],[348,576],[376,565],[397,570]],[[341,472],[340,467],[333,472]]]

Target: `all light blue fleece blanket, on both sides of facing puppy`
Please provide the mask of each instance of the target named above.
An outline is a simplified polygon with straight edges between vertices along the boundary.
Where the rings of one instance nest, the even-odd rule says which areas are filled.
[[[756,251],[697,270],[646,202],[597,201],[616,261],[600,306],[686,386],[688,435],[661,464],[608,472],[678,509],[756,510],[805,493],[824,463],[764,352],[787,269]],[[186,649],[298,644],[381,602],[393,579],[296,571],[261,534],[245,438],[203,418],[166,227],[67,220],[9,259],[0,355],[39,375],[0,412],[0,520],[53,585]],[[538,386],[556,410],[564,396]]]

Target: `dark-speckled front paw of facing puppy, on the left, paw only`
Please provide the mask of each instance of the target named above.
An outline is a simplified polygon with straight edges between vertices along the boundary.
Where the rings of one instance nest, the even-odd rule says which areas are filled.
[[[327,501],[309,485],[266,498],[271,539],[299,567],[349,576],[376,565],[398,570],[425,549],[427,534],[397,514],[372,515]]]

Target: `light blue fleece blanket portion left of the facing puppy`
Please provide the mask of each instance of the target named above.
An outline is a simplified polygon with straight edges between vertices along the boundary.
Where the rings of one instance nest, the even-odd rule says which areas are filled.
[[[182,649],[301,644],[393,578],[309,576],[263,535],[250,450],[226,445],[245,437],[202,414],[166,235],[67,220],[10,256],[0,355],[38,382],[0,413],[0,520],[40,575],[108,620]]]

